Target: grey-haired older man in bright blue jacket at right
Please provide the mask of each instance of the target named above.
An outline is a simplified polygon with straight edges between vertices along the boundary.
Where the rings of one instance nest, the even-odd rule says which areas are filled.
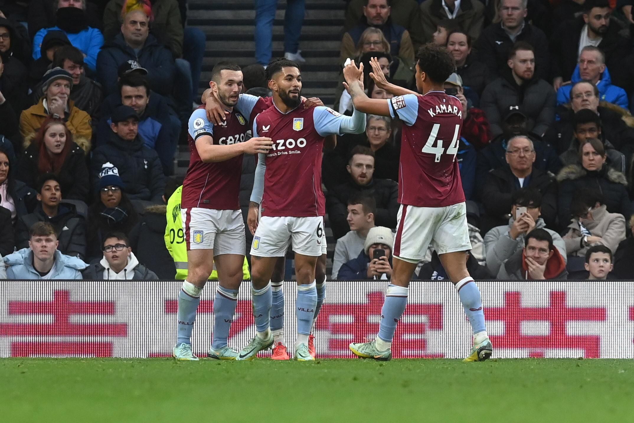
[[[557,105],[570,102],[570,91],[579,81],[590,81],[598,88],[599,99],[621,106],[630,107],[628,94],[621,87],[612,85],[610,72],[605,67],[605,55],[595,46],[585,46],[579,55],[579,64],[574,68],[571,84],[557,90]]]

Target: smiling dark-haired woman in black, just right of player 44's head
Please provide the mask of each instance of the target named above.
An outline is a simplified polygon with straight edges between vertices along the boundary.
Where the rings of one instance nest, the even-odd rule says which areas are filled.
[[[484,87],[493,81],[486,65],[475,60],[471,54],[471,37],[462,30],[450,32],[447,37],[447,49],[456,61],[456,73],[462,77],[464,88],[469,88],[482,95]]]

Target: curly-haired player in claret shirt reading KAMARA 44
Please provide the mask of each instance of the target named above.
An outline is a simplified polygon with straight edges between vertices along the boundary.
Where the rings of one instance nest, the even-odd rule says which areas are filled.
[[[418,50],[414,93],[382,79],[373,60],[373,79],[396,97],[371,99],[358,84],[354,62],[344,68],[346,88],[354,108],[373,115],[403,120],[399,164],[398,225],[394,240],[392,280],[385,294],[378,335],[373,342],[353,343],[354,355],[375,360],[392,358],[392,338],[405,311],[411,275],[432,243],[451,282],[455,284],[474,332],[473,347],[465,361],[486,360],[493,353],[486,333],[480,291],[465,264],[471,249],[465,196],[456,153],[462,127],[462,105],[444,93],[443,84],[454,71],[450,53],[442,46],[426,44]]]

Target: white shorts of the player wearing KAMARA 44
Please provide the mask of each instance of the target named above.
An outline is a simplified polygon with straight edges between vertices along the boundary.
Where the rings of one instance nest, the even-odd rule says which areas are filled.
[[[401,260],[418,263],[429,244],[438,254],[471,249],[463,202],[445,207],[401,205],[396,221],[393,255]]]

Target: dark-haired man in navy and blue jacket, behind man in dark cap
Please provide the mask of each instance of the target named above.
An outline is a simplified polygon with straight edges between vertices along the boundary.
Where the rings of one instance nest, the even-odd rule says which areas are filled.
[[[130,65],[126,62],[122,66]],[[105,145],[112,136],[110,116],[115,108],[120,105],[132,107],[139,117],[139,138],[145,146],[156,150],[164,174],[169,175],[174,167],[178,133],[172,128],[167,102],[160,94],[150,91],[150,84],[139,74],[139,69],[145,71],[136,68],[136,72],[123,74],[119,79],[119,91],[110,94],[104,101],[97,129],[97,146]]]

